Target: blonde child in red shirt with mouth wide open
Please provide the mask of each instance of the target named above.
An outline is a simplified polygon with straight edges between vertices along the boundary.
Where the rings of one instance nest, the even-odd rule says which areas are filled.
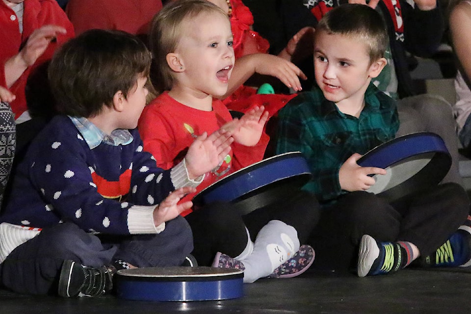
[[[138,128],[144,149],[157,165],[167,169],[178,164],[204,132],[233,130],[231,152],[211,168],[198,192],[262,160],[268,142],[263,107],[256,106],[238,120],[216,99],[227,92],[233,71],[232,40],[225,12],[205,0],[166,4],[150,30],[161,94],[143,110]],[[267,276],[294,277],[311,265],[314,250],[301,244],[315,225],[317,210],[315,198],[298,191],[244,215],[229,203],[183,214],[193,231],[192,255],[198,264],[242,268],[244,282],[251,283]]]

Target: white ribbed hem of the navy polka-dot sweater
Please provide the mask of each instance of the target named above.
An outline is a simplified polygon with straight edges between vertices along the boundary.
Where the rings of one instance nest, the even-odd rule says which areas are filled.
[[[38,228],[22,227],[6,222],[0,224],[0,264],[6,257],[27,240],[39,235]]]

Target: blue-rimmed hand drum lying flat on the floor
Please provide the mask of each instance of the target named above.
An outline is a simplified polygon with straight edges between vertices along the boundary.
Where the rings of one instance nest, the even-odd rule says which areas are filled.
[[[215,267],[143,267],[116,273],[118,297],[139,301],[204,301],[243,296],[243,271]]]

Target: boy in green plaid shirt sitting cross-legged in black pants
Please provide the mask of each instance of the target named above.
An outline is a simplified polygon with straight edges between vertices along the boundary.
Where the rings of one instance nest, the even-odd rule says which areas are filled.
[[[415,260],[454,266],[471,258],[470,201],[461,185],[439,184],[392,202],[368,193],[375,183],[369,175],[386,170],[357,160],[393,139],[399,127],[395,102],[372,83],[387,62],[386,45],[386,27],[374,9],[332,9],[314,34],[317,86],[279,115],[276,151],[303,153],[314,175],[304,189],[321,203],[310,242],[314,266],[354,267],[360,277],[394,273]]]

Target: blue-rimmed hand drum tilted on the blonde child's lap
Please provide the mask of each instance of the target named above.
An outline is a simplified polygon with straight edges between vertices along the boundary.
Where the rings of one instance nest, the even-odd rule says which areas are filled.
[[[247,214],[290,195],[308,183],[312,174],[300,152],[263,159],[209,185],[193,198],[195,208],[212,202],[231,202]]]

